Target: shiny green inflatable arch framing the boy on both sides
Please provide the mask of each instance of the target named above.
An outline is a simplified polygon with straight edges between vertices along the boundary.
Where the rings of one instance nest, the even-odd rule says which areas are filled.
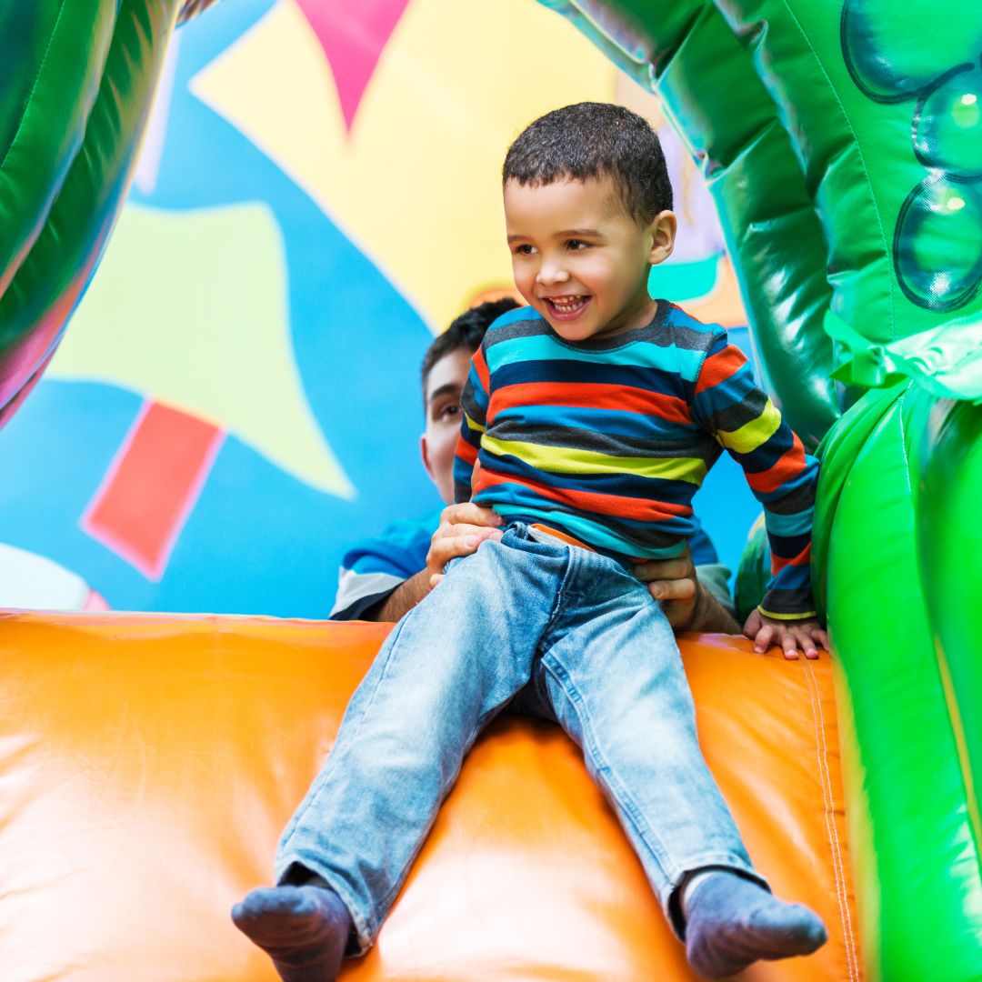
[[[977,979],[982,8],[542,2],[662,98],[715,195],[765,383],[819,446],[814,581],[866,973]],[[206,6],[0,12],[0,424],[98,263],[170,34]]]

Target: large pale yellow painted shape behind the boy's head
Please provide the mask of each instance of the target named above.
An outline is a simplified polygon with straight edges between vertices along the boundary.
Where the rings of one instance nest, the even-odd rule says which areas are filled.
[[[280,0],[191,91],[242,131],[369,255],[439,333],[511,286],[508,144],[536,116],[614,98],[616,69],[530,0],[411,0],[349,134],[295,0]]]

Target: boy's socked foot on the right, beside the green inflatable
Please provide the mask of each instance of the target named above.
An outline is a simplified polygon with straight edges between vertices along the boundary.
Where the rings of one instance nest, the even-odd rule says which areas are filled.
[[[685,955],[711,979],[736,975],[758,958],[810,955],[828,939],[821,918],[726,870],[697,875],[685,888]]]

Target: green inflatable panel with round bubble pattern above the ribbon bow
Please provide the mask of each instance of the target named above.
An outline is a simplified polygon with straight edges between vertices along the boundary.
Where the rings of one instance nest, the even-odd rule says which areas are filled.
[[[976,0],[720,0],[778,105],[828,243],[837,377],[953,319],[982,338],[982,12]],[[767,29],[762,29],[766,25]],[[910,29],[911,25],[923,29]],[[909,352],[909,349],[908,349]],[[905,362],[929,375],[932,365]],[[977,365],[971,374],[980,381]],[[972,391],[973,390],[973,391]],[[982,398],[965,386],[959,398]]]

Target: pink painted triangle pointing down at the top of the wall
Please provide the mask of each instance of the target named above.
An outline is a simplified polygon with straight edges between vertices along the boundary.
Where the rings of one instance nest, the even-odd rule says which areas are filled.
[[[297,0],[324,49],[349,131],[379,56],[409,0]]]

